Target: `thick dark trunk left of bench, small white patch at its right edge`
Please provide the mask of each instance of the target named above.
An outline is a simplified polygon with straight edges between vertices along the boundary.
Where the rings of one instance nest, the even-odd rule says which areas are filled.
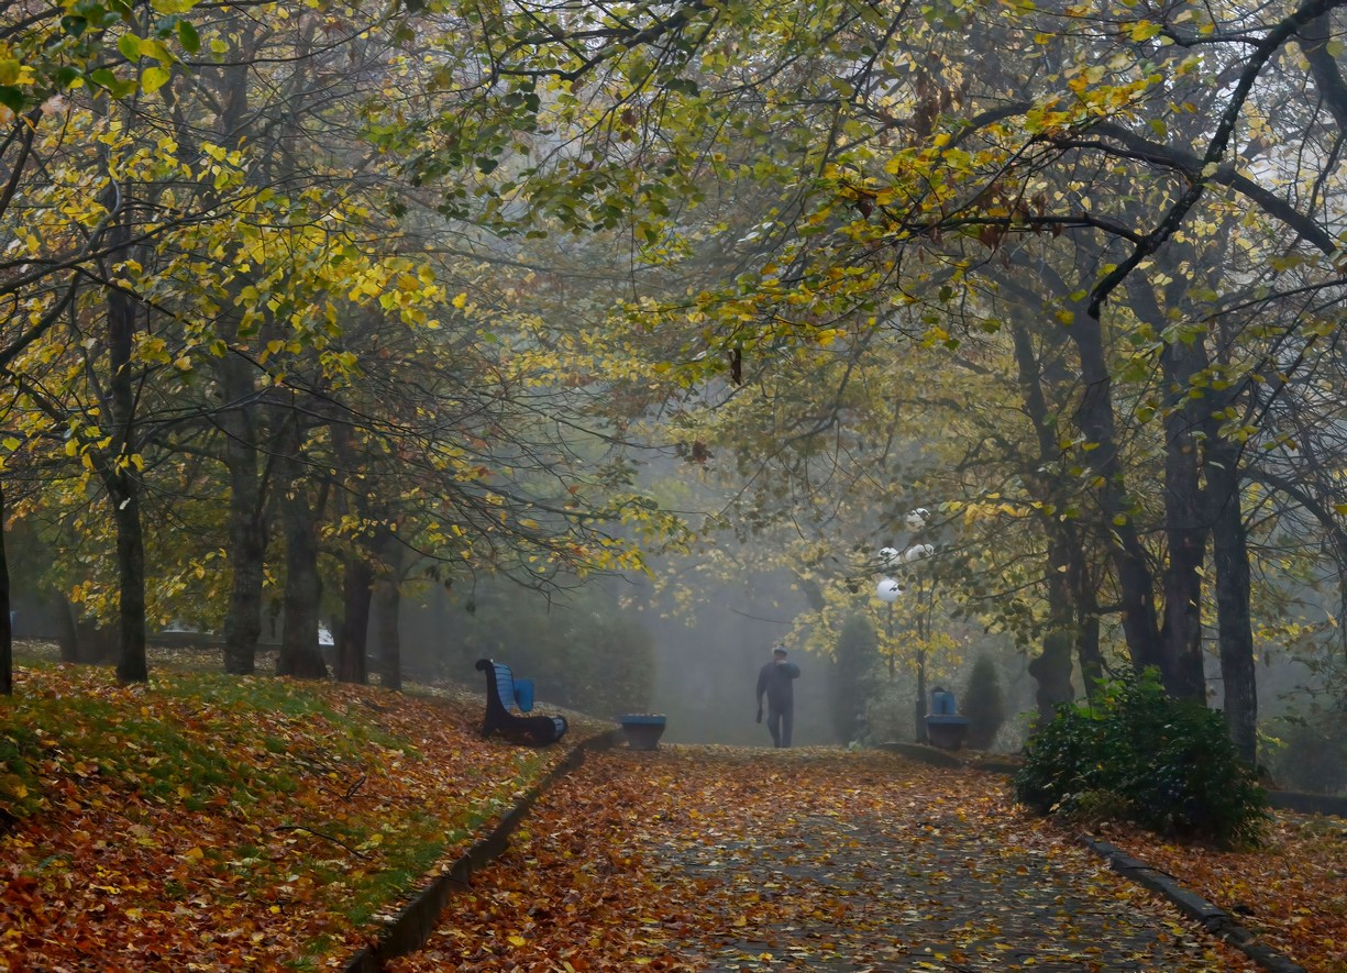
[[[280,520],[286,535],[286,620],[280,633],[276,675],[323,679],[327,663],[318,650],[318,524],[303,465],[299,461],[299,416],[286,419],[279,473]]]

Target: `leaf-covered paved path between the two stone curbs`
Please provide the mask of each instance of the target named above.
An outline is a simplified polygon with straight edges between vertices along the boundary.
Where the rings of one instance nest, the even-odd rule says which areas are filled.
[[[1254,969],[1004,791],[876,752],[594,756],[389,969]]]

